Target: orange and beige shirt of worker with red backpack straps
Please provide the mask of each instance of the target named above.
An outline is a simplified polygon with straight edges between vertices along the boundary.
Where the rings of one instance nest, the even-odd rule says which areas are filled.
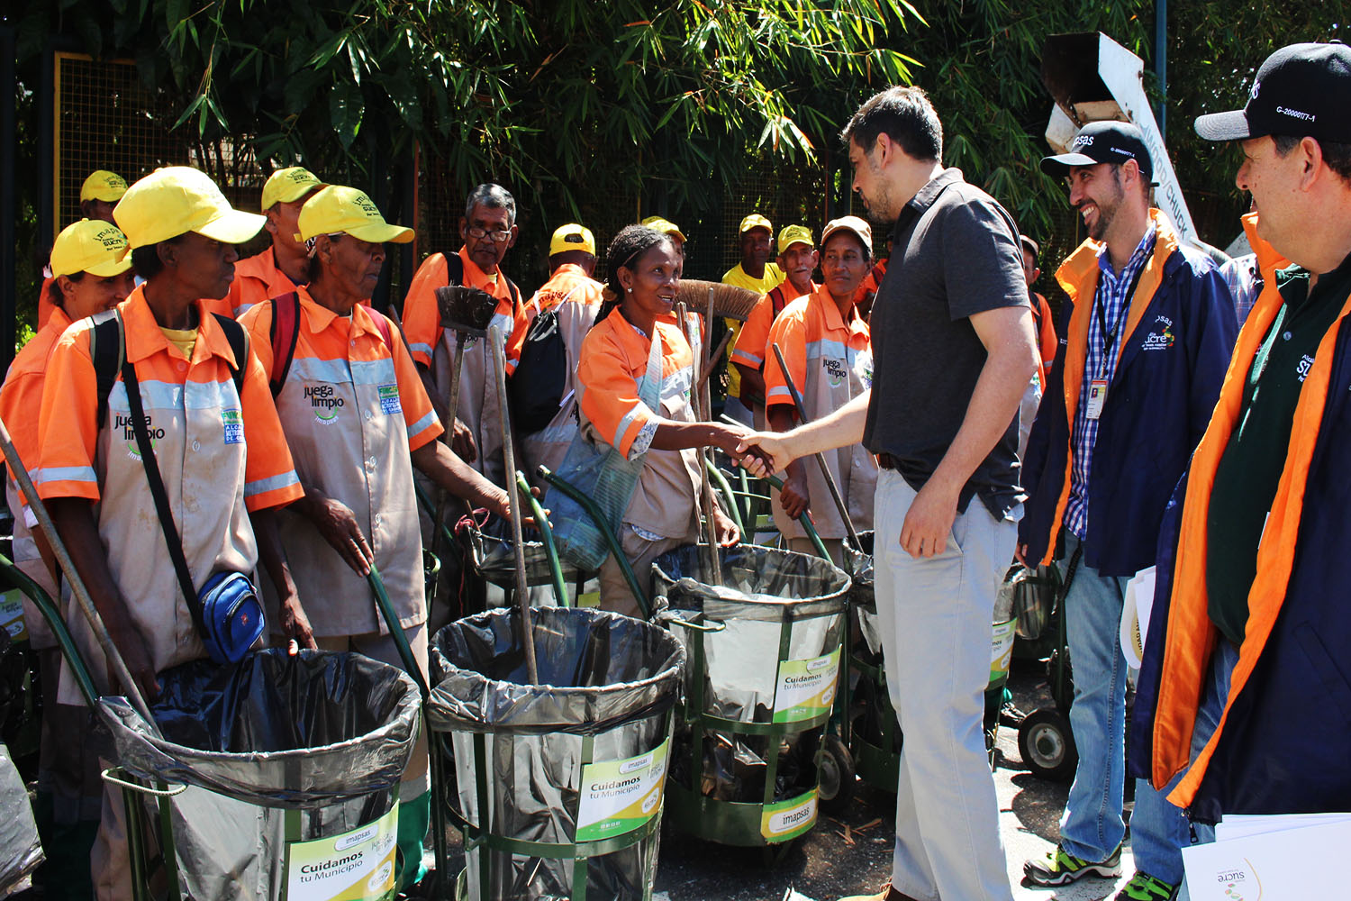
[[[353,512],[376,554],[376,566],[399,620],[427,619],[422,535],[409,451],[442,432],[431,398],[397,330],[357,305],[351,317],[319,305],[304,289],[296,354],[277,396],[277,415],[305,488],[316,488]],[[282,299],[280,303],[289,303]],[[272,304],[240,320],[263,369],[276,365],[269,332]],[[281,540],[315,635],[384,632],[366,580],[357,575],[312,521],[284,511]]]

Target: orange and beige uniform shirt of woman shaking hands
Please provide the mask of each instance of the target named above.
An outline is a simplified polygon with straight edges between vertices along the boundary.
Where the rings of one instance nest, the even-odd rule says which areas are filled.
[[[697,317],[689,313],[690,321]],[[581,427],[593,440],[632,457],[634,442],[654,417],[694,421],[689,390],[694,354],[674,320],[658,319],[662,340],[662,403],[653,411],[638,397],[647,371],[651,339],[640,335],[616,308],[586,335],[577,370]],[[686,538],[694,523],[694,492],[703,485],[693,450],[648,450],[624,521],[665,538]]]

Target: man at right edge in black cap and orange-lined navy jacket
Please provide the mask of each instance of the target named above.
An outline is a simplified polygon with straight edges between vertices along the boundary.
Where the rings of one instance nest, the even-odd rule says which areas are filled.
[[[1202,840],[1221,816],[1351,809],[1347,109],[1351,49],[1298,43],[1244,109],[1196,120],[1240,142],[1265,286],[1161,535],[1131,761]]]

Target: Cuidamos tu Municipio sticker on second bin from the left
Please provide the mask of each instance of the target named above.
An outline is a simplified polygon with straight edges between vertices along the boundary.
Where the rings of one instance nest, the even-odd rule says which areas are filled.
[[[657,748],[624,761],[604,761],[582,767],[577,840],[594,842],[632,832],[662,806],[670,739]]]

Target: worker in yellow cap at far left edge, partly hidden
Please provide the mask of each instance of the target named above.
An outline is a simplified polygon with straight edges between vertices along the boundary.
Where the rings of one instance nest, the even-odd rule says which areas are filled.
[[[51,281],[47,324],[14,358],[0,386],[0,419],[9,428],[15,450],[24,466],[38,466],[38,417],[42,386],[47,380],[51,350],[73,321],[112,309],[131,293],[131,261],[127,239],[101,220],[81,219],[57,235],[51,249]],[[14,511],[14,561],[49,596],[59,597],[51,548],[24,504],[11,477],[5,496]],[[99,823],[99,756],[89,748],[89,716],[82,706],[57,702],[61,651],[42,615],[24,598],[24,625],[28,642],[38,652],[42,675],[42,740],[38,751],[38,828],[47,860],[35,877],[36,885],[50,885],[76,894],[93,892],[88,867],[70,870],[57,862],[89,859],[93,828]]]

